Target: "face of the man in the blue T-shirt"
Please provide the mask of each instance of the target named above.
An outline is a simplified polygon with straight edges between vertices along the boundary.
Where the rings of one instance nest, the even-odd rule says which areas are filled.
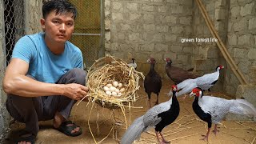
[[[46,40],[66,42],[74,31],[74,18],[72,13],[58,14],[55,11],[41,19],[42,30],[45,31]]]

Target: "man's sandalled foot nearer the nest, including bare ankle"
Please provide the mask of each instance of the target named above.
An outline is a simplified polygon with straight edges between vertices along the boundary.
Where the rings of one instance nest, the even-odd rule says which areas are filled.
[[[68,136],[78,136],[82,134],[82,129],[71,121],[66,119],[58,112],[54,116],[54,129],[61,131]]]

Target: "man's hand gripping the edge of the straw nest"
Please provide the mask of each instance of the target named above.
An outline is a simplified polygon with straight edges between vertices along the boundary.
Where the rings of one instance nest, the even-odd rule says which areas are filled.
[[[63,95],[75,100],[81,100],[87,95],[87,92],[88,88],[86,86],[82,86],[77,83],[70,83],[65,85]]]

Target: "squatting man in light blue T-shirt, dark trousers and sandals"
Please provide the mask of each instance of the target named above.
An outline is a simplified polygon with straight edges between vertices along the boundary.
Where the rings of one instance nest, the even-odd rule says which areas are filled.
[[[69,136],[82,129],[67,119],[88,92],[82,52],[68,42],[77,10],[70,2],[51,0],[42,6],[43,33],[26,35],[14,46],[3,79],[6,108],[26,129],[18,143],[34,143],[38,121],[54,119],[54,129]]]

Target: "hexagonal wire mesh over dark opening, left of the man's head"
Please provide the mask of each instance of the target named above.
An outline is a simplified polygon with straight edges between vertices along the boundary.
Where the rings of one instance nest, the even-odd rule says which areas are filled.
[[[14,45],[25,33],[23,0],[4,0],[6,65],[9,64]]]

